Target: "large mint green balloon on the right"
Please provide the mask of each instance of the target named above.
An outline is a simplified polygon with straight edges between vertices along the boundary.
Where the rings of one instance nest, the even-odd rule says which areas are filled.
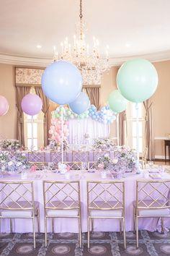
[[[117,72],[117,87],[128,101],[146,101],[155,93],[157,85],[156,68],[146,59],[126,61]]]

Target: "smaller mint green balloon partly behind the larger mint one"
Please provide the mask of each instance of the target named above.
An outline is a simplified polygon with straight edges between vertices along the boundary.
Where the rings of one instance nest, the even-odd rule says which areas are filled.
[[[112,111],[120,113],[127,108],[128,101],[121,95],[119,90],[113,90],[109,94],[108,103]]]

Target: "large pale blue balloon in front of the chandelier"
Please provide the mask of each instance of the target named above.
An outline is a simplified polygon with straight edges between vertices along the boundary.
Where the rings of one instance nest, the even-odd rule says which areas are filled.
[[[73,102],[81,92],[81,72],[68,61],[56,61],[46,67],[42,74],[43,93],[55,103]]]

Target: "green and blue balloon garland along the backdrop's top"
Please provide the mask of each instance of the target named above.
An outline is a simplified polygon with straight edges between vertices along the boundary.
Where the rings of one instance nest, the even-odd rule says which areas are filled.
[[[58,107],[55,111],[52,111],[52,116],[53,119],[61,120],[61,108]],[[96,106],[90,105],[88,110],[80,115],[73,113],[73,111],[66,106],[63,108],[63,120],[65,121],[68,121],[69,119],[84,119],[89,116],[91,119],[104,124],[111,124],[116,119],[115,113],[109,108],[109,106],[103,106],[101,110],[97,111]]]

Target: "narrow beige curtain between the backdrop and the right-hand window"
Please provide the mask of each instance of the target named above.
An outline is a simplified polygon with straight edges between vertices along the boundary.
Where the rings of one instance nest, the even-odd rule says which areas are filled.
[[[119,145],[125,145],[126,135],[127,135],[127,125],[126,125],[126,111],[122,111],[119,114]]]

